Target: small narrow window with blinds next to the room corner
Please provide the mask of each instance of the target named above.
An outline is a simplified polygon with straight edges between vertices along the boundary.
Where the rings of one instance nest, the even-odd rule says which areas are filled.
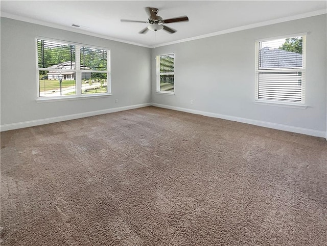
[[[157,60],[157,91],[173,93],[175,54],[163,54]]]

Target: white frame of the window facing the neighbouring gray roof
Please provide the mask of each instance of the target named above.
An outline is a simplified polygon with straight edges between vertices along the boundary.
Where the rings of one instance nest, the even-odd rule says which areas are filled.
[[[259,69],[259,43],[265,41],[273,41],[276,39],[287,39],[294,37],[302,37],[302,67],[294,68],[266,68]],[[290,106],[298,108],[306,108],[306,37],[307,33],[296,33],[290,35],[283,35],[277,37],[270,37],[264,39],[255,40],[255,91],[254,91],[254,103],[256,104],[273,104],[281,106]],[[259,73],[265,72],[301,72],[301,102],[283,101],[274,99],[259,99]]]

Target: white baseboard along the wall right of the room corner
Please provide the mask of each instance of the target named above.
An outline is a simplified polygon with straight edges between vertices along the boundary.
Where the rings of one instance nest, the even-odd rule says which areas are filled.
[[[266,122],[266,121],[251,120],[251,119],[241,118],[241,117],[236,117],[236,116],[221,115],[221,114],[216,114],[216,113],[191,110],[189,108],[175,107],[175,106],[158,104],[158,103],[152,103],[152,106],[168,108],[170,110],[182,111],[182,112],[196,114],[196,115],[220,118],[220,119],[224,119],[224,120],[237,121],[237,122],[247,123],[247,124],[256,125],[256,126],[263,126],[263,127],[277,129],[277,130],[296,132],[296,133],[301,133],[301,134],[306,134],[306,135],[311,135],[311,136],[320,136],[322,138],[326,138],[326,140],[327,140],[327,135],[326,135],[327,133],[325,131],[317,131],[317,130],[308,129],[308,128],[288,126],[288,125],[271,123],[271,122]]]

